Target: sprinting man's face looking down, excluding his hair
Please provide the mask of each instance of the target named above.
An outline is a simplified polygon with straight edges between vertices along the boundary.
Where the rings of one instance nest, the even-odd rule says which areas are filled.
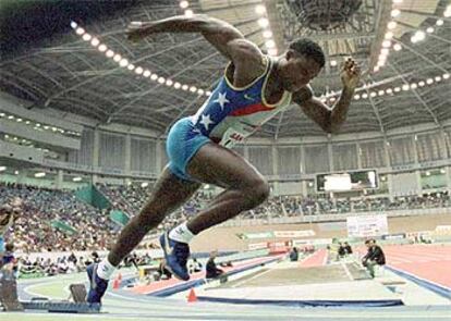
[[[300,90],[321,71],[321,66],[315,60],[293,50],[287,51],[285,59],[281,74],[283,88],[288,91]]]

